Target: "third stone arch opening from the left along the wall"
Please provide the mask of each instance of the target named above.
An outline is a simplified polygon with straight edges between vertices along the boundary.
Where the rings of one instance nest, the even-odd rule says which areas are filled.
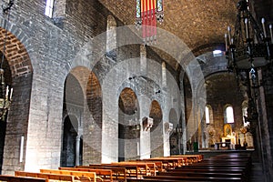
[[[136,93],[126,87],[118,99],[118,161],[136,159],[139,156],[139,116]]]

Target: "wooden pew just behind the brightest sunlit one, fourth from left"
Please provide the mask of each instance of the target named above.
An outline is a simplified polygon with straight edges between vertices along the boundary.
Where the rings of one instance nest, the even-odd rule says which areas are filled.
[[[104,181],[113,181],[113,176],[112,176],[112,170],[111,169],[79,168],[79,167],[59,167],[59,170],[95,172],[96,176],[103,178]]]

